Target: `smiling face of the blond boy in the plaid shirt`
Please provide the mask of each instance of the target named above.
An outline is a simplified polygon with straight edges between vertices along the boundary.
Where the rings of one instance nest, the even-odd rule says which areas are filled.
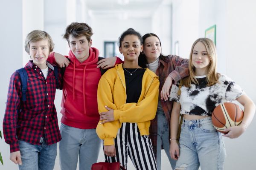
[[[29,53],[33,63],[41,69],[47,68],[46,61],[49,56],[48,40],[31,42],[29,44]]]

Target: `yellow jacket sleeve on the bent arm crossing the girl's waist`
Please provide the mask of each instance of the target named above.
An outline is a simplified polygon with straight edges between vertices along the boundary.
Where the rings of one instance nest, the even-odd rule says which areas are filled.
[[[157,111],[158,88],[159,80],[154,77],[145,98],[139,99],[140,102],[138,103],[126,103],[120,109],[114,110],[114,119],[122,123],[138,123],[154,119]]]

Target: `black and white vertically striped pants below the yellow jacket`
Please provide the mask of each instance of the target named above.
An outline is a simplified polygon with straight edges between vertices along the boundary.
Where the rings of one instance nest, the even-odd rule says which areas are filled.
[[[122,123],[115,139],[115,147],[116,157],[105,155],[106,162],[120,162],[127,169],[129,156],[136,170],[157,170],[151,139],[146,135],[140,136],[137,123]]]

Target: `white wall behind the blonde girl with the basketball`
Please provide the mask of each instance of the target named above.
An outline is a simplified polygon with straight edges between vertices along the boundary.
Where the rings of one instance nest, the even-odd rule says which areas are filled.
[[[189,56],[192,43],[216,24],[217,71],[227,74],[256,103],[256,1],[173,0],[174,40],[180,56]],[[238,139],[226,138],[225,170],[255,169],[256,118]]]

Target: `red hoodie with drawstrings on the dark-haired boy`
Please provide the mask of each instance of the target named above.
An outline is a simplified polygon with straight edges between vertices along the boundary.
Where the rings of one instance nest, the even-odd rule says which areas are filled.
[[[101,72],[96,68],[99,50],[90,48],[89,53],[88,59],[80,63],[70,50],[70,64],[63,77],[61,123],[79,129],[96,128],[99,122],[97,89]],[[54,53],[48,60],[55,63]]]

